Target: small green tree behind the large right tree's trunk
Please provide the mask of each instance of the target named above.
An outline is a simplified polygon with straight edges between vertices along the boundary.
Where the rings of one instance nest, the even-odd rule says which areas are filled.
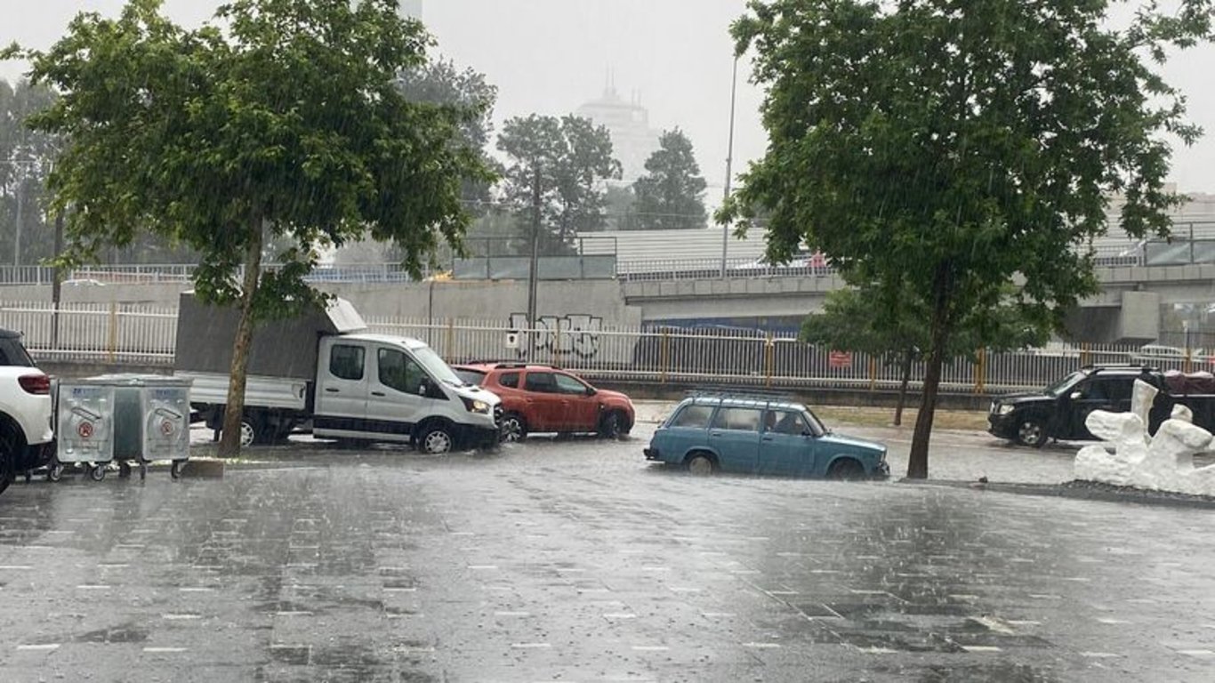
[[[1006,289],[1012,297],[1012,290]],[[946,360],[974,360],[977,351],[1007,351],[1040,346],[1049,339],[1041,326],[1021,318],[1011,305],[970,311],[950,337]],[[927,301],[908,287],[866,283],[827,294],[823,312],[802,323],[803,342],[842,351],[858,351],[885,359],[899,367],[899,394],[894,424],[903,424],[912,363],[921,360],[932,343]]]

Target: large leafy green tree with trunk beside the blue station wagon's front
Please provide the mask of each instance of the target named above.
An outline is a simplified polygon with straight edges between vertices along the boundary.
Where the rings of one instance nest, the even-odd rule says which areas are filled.
[[[1084,244],[1121,226],[1166,235],[1164,134],[1192,142],[1185,103],[1153,70],[1205,40],[1211,2],[1171,17],[1147,2],[1126,28],[1104,0],[752,0],[731,28],[767,91],[768,152],[722,211],[770,211],[769,255],[802,239],[852,283],[906,278],[928,304],[923,399],[908,476],[928,441],[950,338],[1002,301],[1058,326],[1097,290]]]

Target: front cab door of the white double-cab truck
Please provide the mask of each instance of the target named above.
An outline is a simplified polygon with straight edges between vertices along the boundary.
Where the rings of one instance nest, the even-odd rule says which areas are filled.
[[[367,396],[367,427],[382,434],[408,436],[425,412],[420,394],[426,372],[403,349],[375,345],[375,367]]]

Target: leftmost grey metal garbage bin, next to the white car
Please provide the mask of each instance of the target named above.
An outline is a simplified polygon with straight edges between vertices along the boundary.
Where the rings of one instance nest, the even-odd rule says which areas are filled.
[[[62,379],[57,406],[57,446],[47,479],[57,481],[64,464],[78,464],[101,481],[114,459],[114,386],[92,378]]]

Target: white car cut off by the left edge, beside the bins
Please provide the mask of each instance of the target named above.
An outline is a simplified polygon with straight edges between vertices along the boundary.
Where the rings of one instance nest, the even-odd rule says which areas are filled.
[[[34,367],[18,333],[0,329],[0,491],[53,455],[51,412],[51,378]]]

